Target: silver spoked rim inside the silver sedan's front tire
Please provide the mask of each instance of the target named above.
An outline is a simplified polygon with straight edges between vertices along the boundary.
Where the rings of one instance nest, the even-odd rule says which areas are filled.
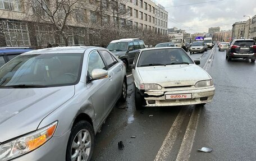
[[[90,155],[92,139],[88,130],[77,132],[71,147],[72,161],[86,161]]]

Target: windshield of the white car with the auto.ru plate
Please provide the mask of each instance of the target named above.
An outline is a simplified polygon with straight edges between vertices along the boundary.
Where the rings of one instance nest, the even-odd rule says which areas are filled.
[[[183,49],[152,49],[140,53],[137,67],[194,63]]]

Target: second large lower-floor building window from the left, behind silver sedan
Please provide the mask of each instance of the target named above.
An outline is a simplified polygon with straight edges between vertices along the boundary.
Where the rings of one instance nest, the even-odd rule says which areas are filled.
[[[36,43],[38,46],[46,46],[48,43],[55,44],[54,30],[49,25],[35,25]]]

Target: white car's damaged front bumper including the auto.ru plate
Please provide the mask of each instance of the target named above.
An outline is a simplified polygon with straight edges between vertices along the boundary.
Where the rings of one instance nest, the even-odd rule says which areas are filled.
[[[200,89],[140,91],[140,94],[144,97],[144,106],[151,107],[209,103],[212,102],[214,92],[214,86],[209,86]]]

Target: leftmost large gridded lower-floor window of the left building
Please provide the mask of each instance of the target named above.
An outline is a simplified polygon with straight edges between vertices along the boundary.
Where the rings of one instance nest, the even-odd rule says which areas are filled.
[[[28,25],[25,22],[2,21],[8,47],[30,46]]]

